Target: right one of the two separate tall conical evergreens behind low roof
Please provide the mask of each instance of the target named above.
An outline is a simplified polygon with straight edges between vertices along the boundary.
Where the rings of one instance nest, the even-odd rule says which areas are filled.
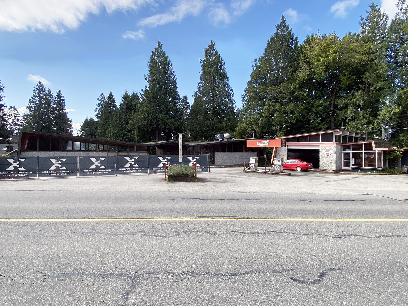
[[[229,85],[225,62],[212,40],[204,49],[200,63],[200,82],[193,95],[189,130],[193,140],[210,140],[215,134],[235,131],[234,92]]]

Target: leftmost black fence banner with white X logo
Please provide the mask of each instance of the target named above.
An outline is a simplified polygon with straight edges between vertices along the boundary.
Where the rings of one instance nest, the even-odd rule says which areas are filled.
[[[0,157],[1,178],[37,178],[37,157]]]

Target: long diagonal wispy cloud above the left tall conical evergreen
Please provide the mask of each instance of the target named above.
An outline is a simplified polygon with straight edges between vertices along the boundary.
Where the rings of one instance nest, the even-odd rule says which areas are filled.
[[[163,25],[169,22],[180,22],[187,15],[199,15],[205,4],[206,3],[203,0],[179,0],[166,13],[143,18],[137,22],[137,25],[154,28],[158,25]]]

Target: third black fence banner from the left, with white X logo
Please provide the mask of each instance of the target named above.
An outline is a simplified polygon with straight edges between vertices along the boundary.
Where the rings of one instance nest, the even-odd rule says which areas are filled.
[[[79,176],[115,175],[115,156],[80,156]]]

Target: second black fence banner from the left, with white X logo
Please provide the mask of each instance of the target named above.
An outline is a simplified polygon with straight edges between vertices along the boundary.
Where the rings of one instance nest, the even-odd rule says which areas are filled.
[[[77,156],[38,157],[38,177],[78,176]]]

